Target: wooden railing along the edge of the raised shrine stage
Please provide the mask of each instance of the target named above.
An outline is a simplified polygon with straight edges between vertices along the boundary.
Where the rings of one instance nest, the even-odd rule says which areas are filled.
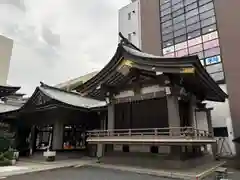
[[[111,129],[92,130],[87,132],[88,137],[122,137],[122,136],[168,136],[168,137],[212,137],[206,130],[193,127],[168,127],[146,129]]]

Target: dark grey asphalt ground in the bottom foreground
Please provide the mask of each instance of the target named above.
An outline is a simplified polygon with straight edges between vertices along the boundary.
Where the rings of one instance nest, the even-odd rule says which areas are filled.
[[[64,168],[4,178],[5,180],[173,180],[97,167]]]

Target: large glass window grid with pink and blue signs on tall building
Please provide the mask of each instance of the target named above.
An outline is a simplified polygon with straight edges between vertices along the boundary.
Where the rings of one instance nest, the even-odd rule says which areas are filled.
[[[165,2],[162,3],[163,1],[165,1]],[[183,6],[182,6],[182,2],[183,2]],[[196,3],[197,3],[197,8],[195,8]],[[209,8],[208,5],[210,5],[210,4],[213,4],[213,7]],[[209,23],[209,22],[211,22],[210,21],[211,18],[215,18],[215,10],[214,10],[213,0],[160,0],[160,5],[165,6],[165,8],[160,8],[161,11],[164,11],[164,10],[166,11],[165,12],[166,14],[164,16],[161,15],[161,18],[160,18],[161,19],[161,24],[164,23],[164,22],[167,22],[167,21],[172,21],[171,23],[173,24],[172,27],[171,26],[168,27],[169,29],[163,28],[162,25],[161,25],[162,32],[165,32],[165,33],[162,33],[162,36],[168,35],[168,34],[171,34],[171,33],[173,33],[173,35],[174,35],[174,37],[172,39],[169,39],[165,42],[162,42],[163,49],[167,49],[168,47],[173,48],[173,49],[171,49],[171,51],[169,53],[165,52],[164,56],[166,56],[166,57],[176,57],[176,56],[178,56],[178,54],[179,55],[185,55],[185,54],[188,55],[188,54],[190,54],[189,53],[189,48],[194,47],[194,46],[198,46],[198,44],[199,44],[203,47],[202,51],[192,53],[190,55],[198,55],[199,59],[200,59],[200,62],[202,63],[203,66],[209,67],[209,66],[214,65],[214,64],[218,64],[218,63],[221,64],[222,63],[222,61],[220,61],[220,62],[217,62],[217,63],[207,64],[206,61],[205,61],[206,57],[204,55],[205,50],[210,50],[210,49],[214,49],[216,47],[219,47],[218,44],[216,44],[216,46],[213,44],[212,48],[204,48],[204,47],[206,47],[206,44],[208,44],[208,43],[211,44],[211,41],[214,41],[214,40],[219,41],[219,37],[216,37],[215,39],[210,39],[210,40],[208,39],[207,41],[203,42],[203,35],[207,35],[207,34],[210,34],[211,32],[217,31],[216,20],[213,19],[213,22]],[[173,5],[174,5],[175,9],[172,9]],[[193,11],[195,13],[197,12],[197,14],[195,16],[193,16],[191,14],[189,16],[186,16],[187,12],[190,12],[194,9],[197,9],[197,10]],[[179,19],[182,15],[184,15],[184,19],[182,21],[178,21],[177,19]],[[194,17],[196,18],[196,20],[194,20]],[[177,25],[174,23],[173,19],[175,19],[175,22],[177,22]],[[192,22],[190,21],[190,19],[192,19]],[[204,21],[204,20],[207,20],[207,19],[209,20],[209,22]],[[184,25],[183,24],[181,25],[181,23],[183,23]],[[184,32],[185,30],[187,30],[187,27],[189,25],[197,24],[197,23],[200,23],[200,28],[196,28],[197,31],[198,30],[200,31],[200,36],[197,36],[197,37],[194,36],[194,37],[188,39],[186,37],[187,32],[186,32],[185,35],[181,33],[181,31]],[[192,31],[192,32],[194,32],[194,31]],[[185,36],[185,38],[183,38],[183,39],[185,39],[185,41],[177,41],[176,42],[175,38],[181,39],[181,37],[183,37],[182,35]],[[196,40],[197,38],[200,38],[201,40],[198,39],[199,41],[197,41]],[[191,40],[194,40],[194,39],[196,40],[196,42],[192,41],[192,44],[188,44],[188,42],[190,42]],[[194,43],[196,43],[196,44],[194,44]],[[183,44],[182,47],[179,46],[181,44]],[[211,45],[209,45],[209,47],[211,47]],[[219,53],[220,54],[214,55],[212,57],[219,56],[221,58],[221,49],[220,49]],[[208,58],[211,58],[211,57],[208,57]],[[211,73],[210,75],[213,76],[214,74],[216,74],[217,78],[219,78],[221,76],[221,74],[218,75],[218,73],[222,73],[223,74],[223,79],[224,79],[224,72],[222,72],[222,71],[214,72],[214,73]]]

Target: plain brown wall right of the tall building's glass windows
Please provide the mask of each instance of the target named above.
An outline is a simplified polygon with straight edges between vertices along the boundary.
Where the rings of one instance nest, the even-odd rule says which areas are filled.
[[[234,136],[240,136],[240,1],[214,0]],[[227,10],[227,13],[226,13]],[[240,155],[240,145],[237,146]]]

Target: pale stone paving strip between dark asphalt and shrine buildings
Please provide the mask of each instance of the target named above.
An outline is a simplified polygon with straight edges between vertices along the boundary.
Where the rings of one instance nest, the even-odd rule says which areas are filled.
[[[134,172],[138,174],[147,174],[154,175],[159,177],[166,178],[182,178],[182,179],[196,179],[196,177],[203,177],[214,171],[219,166],[222,166],[225,162],[213,162],[211,164],[203,165],[202,167],[198,167],[196,169],[188,169],[187,171],[176,171],[169,169],[150,169],[150,168],[141,168],[135,166],[127,166],[127,165],[113,165],[113,164],[104,164],[97,163],[96,160],[62,160],[55,162],[38,162],[38,161],[23,161],[18,162],[16,166],[10,167],[0,167],[0,179],[13,176],[20,175],[32,172],[40,172],[40,171],[49,171],[59,168],[69,168],[69,167],[100,167],[105,169],[113,169],[113,170],[121,170]],[[5,169],[5,170],[4,170]],[[200,179],[200,178],[199,178]]]

